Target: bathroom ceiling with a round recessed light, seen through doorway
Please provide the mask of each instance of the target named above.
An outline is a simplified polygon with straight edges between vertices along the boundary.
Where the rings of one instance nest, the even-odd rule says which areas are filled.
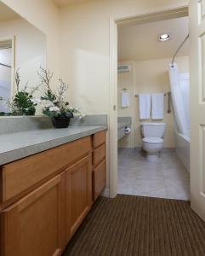
[[[119,27],[119,61],[147,61],[173,57],[179,44],[183,42],[189,33],[188,23],[188,17],[182,17]],[[158,37],[162,33],[170,33],[170,40],[165,42],[159,41]],[[180,49],[178,55],[189,55],[189,41]]]

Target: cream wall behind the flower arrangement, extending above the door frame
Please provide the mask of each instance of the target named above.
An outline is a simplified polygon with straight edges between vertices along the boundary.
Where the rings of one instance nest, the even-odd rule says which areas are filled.
[[[109,113],[110,18],[187,4],[183,0],[103,0],[60,9],[60,71],[72,104]]]

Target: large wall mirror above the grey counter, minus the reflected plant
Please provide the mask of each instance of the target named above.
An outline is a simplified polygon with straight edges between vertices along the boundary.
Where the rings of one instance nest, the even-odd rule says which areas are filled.
[[[20,75],[20,90],[39,85],[37,71],[46,68],[46,35],[0,1],[0,113],[9,113],[8,102],[16,92],[15,75]],[[41,86],[34,97],[42,95]],[[41,114],[37,107],[36,114]]]

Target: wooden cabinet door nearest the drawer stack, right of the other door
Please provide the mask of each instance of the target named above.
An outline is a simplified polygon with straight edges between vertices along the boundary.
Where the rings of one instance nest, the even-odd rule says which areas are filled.
[[[67,241],[75,233],[92,205],[91,156],[83,158],[65,172]]]

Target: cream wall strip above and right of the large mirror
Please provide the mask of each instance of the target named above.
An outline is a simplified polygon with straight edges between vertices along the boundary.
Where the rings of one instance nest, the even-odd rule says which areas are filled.
[[[47,67],[59,76],[59,9],[51,0],[2,0],[47,36]]]

